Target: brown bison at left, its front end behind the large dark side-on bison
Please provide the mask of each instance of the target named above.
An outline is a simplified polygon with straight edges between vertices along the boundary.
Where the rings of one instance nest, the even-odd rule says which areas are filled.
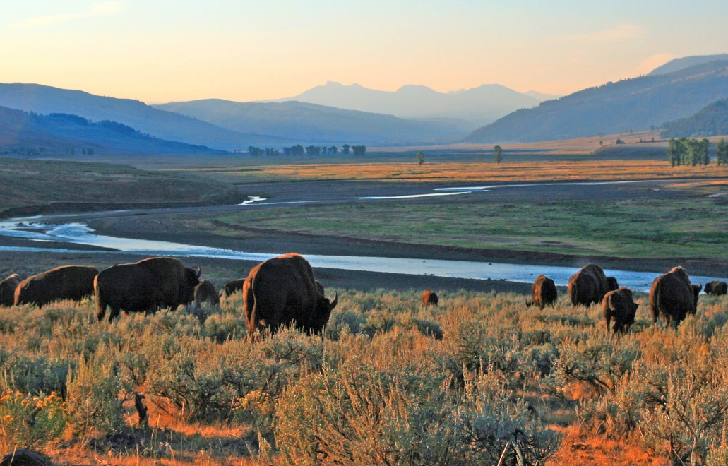
[[[96,267],[66,265],[28,277],[15,288],[14,304],[44,306],[52,301],[81,301],[93,294]]]

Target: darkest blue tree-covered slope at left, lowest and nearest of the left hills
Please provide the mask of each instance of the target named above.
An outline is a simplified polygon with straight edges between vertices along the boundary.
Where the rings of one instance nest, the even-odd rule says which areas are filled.
[[[69,114],[39,115],[0,106],[0,154],[220,154],[139,133],[121,123]]]

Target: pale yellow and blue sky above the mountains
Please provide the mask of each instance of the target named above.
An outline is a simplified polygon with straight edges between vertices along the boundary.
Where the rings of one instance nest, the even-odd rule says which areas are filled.
[[[0,0],[0,82],[146,103],[325,82],[566,95],[728,52],[726,0]]]

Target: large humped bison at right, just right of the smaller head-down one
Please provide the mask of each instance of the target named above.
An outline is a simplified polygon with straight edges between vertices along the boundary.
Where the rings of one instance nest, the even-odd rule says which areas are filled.
[[[652,281],[652,287],[649,289],[652,322],[657,322],[657,316],[662,315],[665,325],[677,328],[685,320],[686,315],[695,314],[696,307],[697,293],[690,284],[690,277],[681,266]]]

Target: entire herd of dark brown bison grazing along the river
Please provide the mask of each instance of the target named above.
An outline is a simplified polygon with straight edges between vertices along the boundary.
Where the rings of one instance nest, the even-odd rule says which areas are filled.
[[[116,264],[98,271],[92,266],[60,266],[32,277],[10,275],[0,281],[0,305],[35,304],[43,306],[52,301],[80,301],[94,296],[99,321],[111,308],[108,321],[119,313],[176,309],[194,302],[217,306],[221,296],[242,291],[248,333],[261,330],[277,331],[284,325],[319,333],[338,301],[324,296],[323,285],[316,280],[306,259],[296,253],[270,258],[253,267],[246,278],[226,283],[218,293],[209,280],[199,280],[201,271],[184,266],[170,257],[146,258],[134,264]],[[690,283],[685,269],[677,266],[652,282],[649,309],[653,322],[662,317],[665,325],[676,328],[687,315],[695,315],[701,285]],[[601,303],[609,333],[614,320],[614,333],[626,332],[634,323],[638,304],[632,291],[620,286],[614,277],[607,277],[595,264],[582,267],[569,278],[567,287],[573,306]],[[713,281],[705,285],[705,293],[716,296],[728,293],[728,284]],[[531,299],[526,307],[553,306],[558,299],[556,286],[548,277],[539,275],[531,287]],[[424,307],[437,306],[438,295],[431,290],[422,293]]]

